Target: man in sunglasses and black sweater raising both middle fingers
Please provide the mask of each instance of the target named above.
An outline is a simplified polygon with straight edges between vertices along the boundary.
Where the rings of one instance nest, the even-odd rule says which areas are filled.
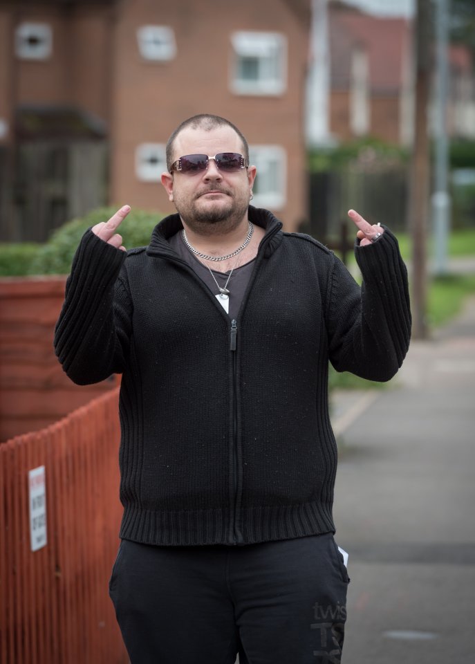
[[[324,246],[249,205],[233,124],[167,145],[178,214],[125,252],[130,210],[86,232],[55,347],[75,382],[122,373],[124,517],[110,593],[132,664],[341,661],[328,361],[389,380],[409,344],[391,232],[351,210],[357,286]],[[371,508],[371,506],[369,506]]]

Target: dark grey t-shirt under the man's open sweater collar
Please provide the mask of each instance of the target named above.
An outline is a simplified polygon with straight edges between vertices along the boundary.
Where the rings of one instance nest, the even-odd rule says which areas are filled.
[[[203,263],[187,248],[181,231],[174,234],[169,238],[169,243],[171,247],[176,251],[178,256],[183,259],[187,264],[194,270],[196,275],[202,279],[203,282],[207,285],[209,290],[216,295],[216,299],[223,306],[225,311],[227,311],[226,304],[229,307],[228,314],[231,319],[236,318],[241,302],[243,301],[245,289],[248,286],[249,279],[252,273],[252,268],[254,267],[254,260],[249,261],[245,265],[240,266],[239,268],[234,268],[232,270],[232,275],[229,282],[227,282],[227,277],[229,277],[231,270],[227,272],[218,272],[217,270],[212,270],[213,275],[218,282],[221,288],[226,287],[230,291],[229,299],[223,299],[220,296],[218,291],[218,286],[214,281],[209,269],[203,265]],[[236,259],[239,259],[239,254],[236,256]],[[216,267],[219,266],[219,263],[216,262]],[[227,286],[225,286],[227,282]]]

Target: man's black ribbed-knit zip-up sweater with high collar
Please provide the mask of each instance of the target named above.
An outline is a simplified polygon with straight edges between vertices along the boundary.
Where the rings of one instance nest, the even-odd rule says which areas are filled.
[[[355,247],[358,286],[326,247],[266,228],[236,320],[171,249],[178,214],[127,255],[86,232],[55,349],[80,385],[122,373],[120,537],[248,544],[333,532],[328,360],[389,380],[407,352],[407,271],[385,230]]]

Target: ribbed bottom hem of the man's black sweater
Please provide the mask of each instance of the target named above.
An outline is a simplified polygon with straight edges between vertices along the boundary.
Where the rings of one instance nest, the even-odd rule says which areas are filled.
[[[120,537],[157,546],[197,544],[257,544],[334,533],[331,506],[303,503],[241,510],[239,540],[231,542],[229,510],[151,512],[125,508]]]

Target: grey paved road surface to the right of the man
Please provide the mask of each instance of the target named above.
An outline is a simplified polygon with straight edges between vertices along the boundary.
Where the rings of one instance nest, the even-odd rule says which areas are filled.
[[[475,299],[393,383],[335,398],[343,661],[475,663]]]

